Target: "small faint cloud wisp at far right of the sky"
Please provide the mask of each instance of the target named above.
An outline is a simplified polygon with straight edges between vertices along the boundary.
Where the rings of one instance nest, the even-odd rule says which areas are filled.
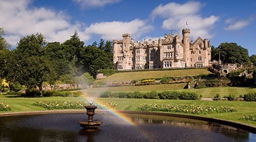
[[[235,21],[235,19],[226,19],[225,23],[228,24],[228,26],[226,26],[224,30],[240,30],[250,25],[250,20]]]

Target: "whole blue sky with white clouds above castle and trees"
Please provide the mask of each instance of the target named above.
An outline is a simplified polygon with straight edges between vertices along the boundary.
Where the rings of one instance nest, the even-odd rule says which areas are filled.
[[[85,45],[100,39],[135,41],[158,39],[191,29],[191,39],[209,39],[211,45],[237,43],[256,54],[254,0],[0,0],[0,27],[13,47],[26,35],[41,32],[48,42],[60,43],[75,30]]]

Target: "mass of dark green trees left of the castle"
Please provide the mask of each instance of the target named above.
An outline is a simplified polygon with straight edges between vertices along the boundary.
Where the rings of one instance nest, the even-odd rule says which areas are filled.
[[[0,28],[0,81],[6,79],[10,86],[18,83],[41,92],[44,82],[79,83],[79,77],[91,85],[98,70],[113,68],[110,41],[101,39],[99,45],[95,41],[84,46],[75,31],[64,43],[47,43],[36,33],[22,37],[17,47],[9,50],[3,34]]]

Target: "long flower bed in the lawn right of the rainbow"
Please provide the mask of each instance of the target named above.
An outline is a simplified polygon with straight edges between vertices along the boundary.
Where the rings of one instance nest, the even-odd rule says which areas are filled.
[[[226,107],[208,107],[200,105],[159,105],[159,104],[143,104],[140,105],[140,111],[153,111],[153,112],[172,112],[172,113],[185,113],[185,114],[214,114],[224,112],[236,112],[233,108]]]

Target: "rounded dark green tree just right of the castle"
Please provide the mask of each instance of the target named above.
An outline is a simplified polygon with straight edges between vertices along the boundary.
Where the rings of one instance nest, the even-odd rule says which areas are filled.
[[[237,43],[221,43],[218,46],[222,63],[250,64],[248,50]]]

